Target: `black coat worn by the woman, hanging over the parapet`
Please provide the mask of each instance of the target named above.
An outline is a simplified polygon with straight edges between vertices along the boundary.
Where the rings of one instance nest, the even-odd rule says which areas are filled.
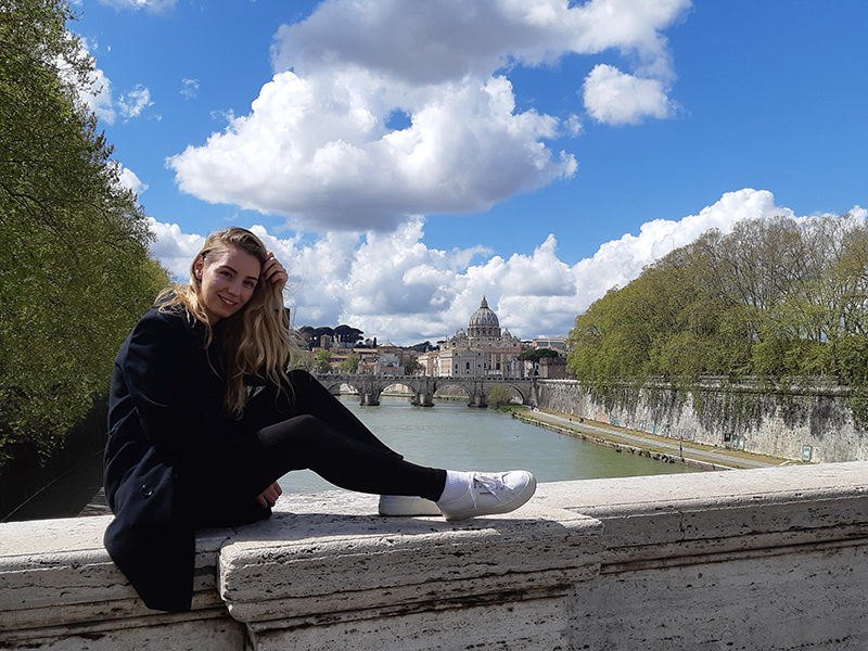
[[[112,376],[104,486],[115,519],[104,542],[155,610],[190,609],[196,522],[270,514],[243,481],[253,442],[224,413],[219,367],[204,341],[204,326],[184,312],[153,309],[124,342]]]

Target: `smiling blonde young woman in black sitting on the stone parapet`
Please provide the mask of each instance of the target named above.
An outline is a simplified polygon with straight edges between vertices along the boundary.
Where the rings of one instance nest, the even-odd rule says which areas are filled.
[[[525,471],[405,461],[316,379],[288,372],[286,280],[252,232],[213,233],[190,283],[164,292],[117,354],[105,547],[149,608],[189,610],[195,529],[268,518],[292,470],[379,494],[385,515],[461,520],[512,511],[534,494]]]

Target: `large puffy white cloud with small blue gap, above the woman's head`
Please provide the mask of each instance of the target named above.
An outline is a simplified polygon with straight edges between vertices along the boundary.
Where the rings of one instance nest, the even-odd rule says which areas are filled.
[[[169,166],[184,192],[291,215],[294,226],[318,231],[387,230],[413,213],[484,210],[575,171],[571,155],[553,156],[539,142],[557,135],[557,120],[515,114],[503,77],[405,88],[412,124],[388,131],[395,92],[372,75],[282,73],[251,115]]]

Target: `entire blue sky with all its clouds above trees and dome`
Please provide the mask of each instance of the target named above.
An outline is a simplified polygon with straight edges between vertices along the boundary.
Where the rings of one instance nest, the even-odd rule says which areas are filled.
[[[154,254],[255,228],[296,326],[566,334],[707,228],[866,217],[861,0],[73,7]]]

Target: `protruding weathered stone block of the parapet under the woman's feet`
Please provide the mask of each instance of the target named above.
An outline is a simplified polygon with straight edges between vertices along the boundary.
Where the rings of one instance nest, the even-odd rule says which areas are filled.
[[[598,521],[534,505],[462,523],[296,514],[268,526],[221,552],[221,596],[245,622],[548,590],[596,574],[601,550]]]

